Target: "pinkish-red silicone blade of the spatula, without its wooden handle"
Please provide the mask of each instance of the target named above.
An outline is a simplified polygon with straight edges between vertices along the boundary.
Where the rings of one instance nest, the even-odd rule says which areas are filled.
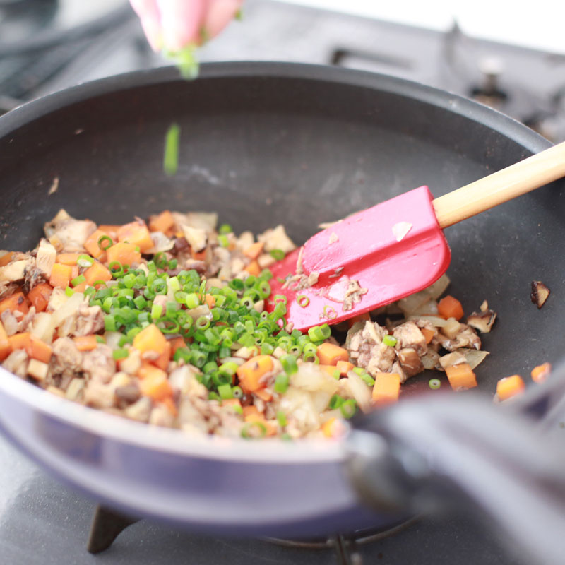
[[[451,254],[432,200],[428,187],[420,186],[311,237],[302,250],[302,278],[288,282],[297,273],[300,249],[271,267],[268,310],[275,295],[284,295],[287,321],[305,330],[364,314],[434,283]],[[316,278],[312,273],[318,273],[317,282],[301,287],[309,275],[310,282]],[[355,283],[361,290],[348,298]]]

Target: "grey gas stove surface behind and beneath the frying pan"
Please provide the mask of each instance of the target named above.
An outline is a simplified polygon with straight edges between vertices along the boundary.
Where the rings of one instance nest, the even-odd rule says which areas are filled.
[[[474,97],[565,140],[565,57],[448,32],[247,0],[201,61],[284,60],[393,74]],[[0,109],[166,64],[125,0],[0,0]],[[492,531],[452,513],[322,540],[204,537],[120,516],[65,487],[0,438],[0,554],[8,565],[517,563]],[[88,541],[90,532],[90,541]],[[115,540],[114,540],[115,538]]]

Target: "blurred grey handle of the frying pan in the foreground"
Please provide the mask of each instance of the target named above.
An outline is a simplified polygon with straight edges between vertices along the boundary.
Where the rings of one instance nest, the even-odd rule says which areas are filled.
[[[532,562],[562,564],[563,440],[504,408],[434,393],[364,416],[347,441],[352,484],[379,511],[478,511]]]

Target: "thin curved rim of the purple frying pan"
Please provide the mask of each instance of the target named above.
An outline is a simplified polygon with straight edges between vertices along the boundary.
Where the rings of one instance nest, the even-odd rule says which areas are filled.
[[[371,88],[393,93],[434,107],[447,109],[475,121],[489,129],[503,133],[531,153],[538,153],[552,145],[533,130],[515,119],[494,109],[468,100],[459,95],[423,85],[403,78],[341,69],[331,66],[283,62],[221,62],[203,64],[200,78],[289,78],[313,82],[339,83]],[[9,137],[14,131],[44,115],[56,112],[78,102],[117,93],[131,88],[142,88],[155,84],[180,82],[177,69],[165,67],[134,71],[90,81],[57,93],[28,102],[3,117],[0,117],[0,139]],[[249,442],[243,439],[228,440],[216,436],[194,438],[178,429],[148,426],[125,418],[107,414],[100,410],[78,405],[70,400],[47,393],[31,383],[12,375],[0,367],[0,391],[16,400],[30,405],[43,415],[71,424],[95,436],[112,441],[152,448],[167,453],[177,453],[210,460],[231,460],[246,463],[321,463],[339,462],[345,458],[343,440],[301,440],[282,442],[267,440]],[[143,433],[142,433],[143,430]],[[346,435],[347,436],[347,435]],[[346,437],[345,436],[345,437]]]

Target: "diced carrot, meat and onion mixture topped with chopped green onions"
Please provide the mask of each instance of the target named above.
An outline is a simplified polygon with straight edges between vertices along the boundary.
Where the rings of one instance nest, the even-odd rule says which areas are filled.
[[[295,249],[284,227],[255,238],[216,225],[169,210],[96,225],[61,210],[33,251],[0,256],[4,369],[132,420],[244,438],[338,436],[343,418],[396,401],[424,369],[476,386],[476,330],[496,314],[484,302],[461,323],[457,299],[438,302],[446,276],[334,333],[302,333],[284,297],[266,310],[268,268]]]

